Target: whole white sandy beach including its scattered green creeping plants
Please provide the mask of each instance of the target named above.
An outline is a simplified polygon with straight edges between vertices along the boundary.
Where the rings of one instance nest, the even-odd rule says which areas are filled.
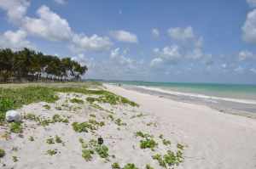
[[[100,88],[111,93],[97,95]],[[53,103],[17,109],[22,132],[9,123],[0,126],[1,168],[256,167],[255,119],[109,84],[84,90],[60,91]]]

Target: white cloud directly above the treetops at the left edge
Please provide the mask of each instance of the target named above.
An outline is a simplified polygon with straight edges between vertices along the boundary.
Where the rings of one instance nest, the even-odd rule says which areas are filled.
[[[20,50],[22,48],[33,48],[32,43],[26,40],[26,31],[5,31],[0,35],[0,48],[12,48]]]

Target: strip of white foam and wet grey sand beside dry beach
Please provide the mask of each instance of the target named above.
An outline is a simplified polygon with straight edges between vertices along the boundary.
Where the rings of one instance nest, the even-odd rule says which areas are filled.
[[[108,83],[106,83],[108,84]],[[113,84],[111,84],[113,85]],[[245,102],[236,102],[236,99],[213,99],[211,96],[206,97],[194,97],[186,93],[177,93],[173,91],[166,91],[156,87],[137,87],[133,85],[122,85],[121,87],[137,91],[139,93],[148,93],[150,95],[158,96],[160,98],[172,99],[174,101],[206,105],[214,110],[218,110],[222,113],[228,113],[232,115],[241,115],[248,118],[256,119],[256,104],[247,104]],[[240,101],[240,100],[238,100]],[[254,100],[253,100],[254,101]],[[256,102],[256,101],[255,101]]]

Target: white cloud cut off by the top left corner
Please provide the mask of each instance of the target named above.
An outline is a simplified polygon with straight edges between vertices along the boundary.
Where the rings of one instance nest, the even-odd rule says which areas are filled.
[[[7,11],[8,18],[13,23],[20,23],[20,20],[26,15],[26,9],[29,7],[28,0],[1,0],[0,8]]]

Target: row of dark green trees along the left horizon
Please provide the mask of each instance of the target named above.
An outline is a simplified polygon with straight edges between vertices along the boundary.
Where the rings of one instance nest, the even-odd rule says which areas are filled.
[[[60,59],[29,48],[0,49],[0,82],[78,81],[87,70],[69,57]]]

